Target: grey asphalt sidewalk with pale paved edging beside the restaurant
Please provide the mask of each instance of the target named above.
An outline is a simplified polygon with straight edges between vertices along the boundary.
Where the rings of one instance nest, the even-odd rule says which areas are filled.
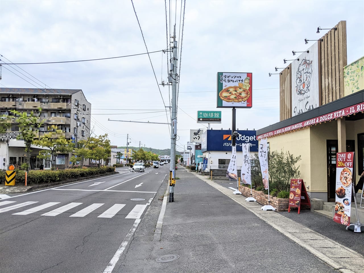
[[[363,234],[309,210],[300,215],[262,211],[261,205],[182,168],[176,175],[181,179],[174,202],[166,202],[161,233],[151,216],[162,205],[153,201],[113,273],[363,272]],[[325,236],[330,233],[332,238]]]

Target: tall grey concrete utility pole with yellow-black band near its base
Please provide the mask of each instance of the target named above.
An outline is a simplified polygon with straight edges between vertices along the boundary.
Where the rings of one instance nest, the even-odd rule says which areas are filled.
[[[171,166],[169,174],[169,202],[174,201],[174,173],[176,170],[176,137],[177,137],[177,41],[176,26],[173,31],[173,59],[170,63],[170,77],[172,78],[172,115],[171,115]]]

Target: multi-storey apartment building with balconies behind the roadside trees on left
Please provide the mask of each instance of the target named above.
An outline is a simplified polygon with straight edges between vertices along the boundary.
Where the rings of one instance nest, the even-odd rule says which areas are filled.
[[[39,111],[43,125],[39,133],[47,132],[55,125],[61,129],[67,139],[77,142],[90,136],[91,103],[80,89],[41,89],[41,88],[0,88],[0,116],[12,115],[11,110],[20,112]],[[7,132],[0,135],[0,169],[8,165],[21,165],[26,161],[24,141],[16,140],[19,127],[12,124]],[[31,169],[48,169],[50,162],[37,159],[36,155],[43,147],[32,146]],[[57,155],[53,165],[59,169],[67,168],[71,155]]]

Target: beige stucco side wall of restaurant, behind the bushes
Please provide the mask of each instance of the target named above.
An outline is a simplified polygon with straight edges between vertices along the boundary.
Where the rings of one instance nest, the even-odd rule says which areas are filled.
[[[303,179],[306,187],[310,185],[311,181],[311,165],[310,165],[310,127],[303,128],[294,132],[278,135],[268,138],[269,150],[280,151],[283,149],[285,152],[293,154],[295,157],[301,155],[300,165],[301,179]],[[311,189],[311,186],[310,186]],[[308,191],[310,191],[308,189]]]

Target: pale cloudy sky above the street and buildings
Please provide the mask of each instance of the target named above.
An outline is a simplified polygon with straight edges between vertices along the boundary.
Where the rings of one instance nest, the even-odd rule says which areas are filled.
[[[207,128],[196,122],[197,111],[222,111],[222,123],[211,127],[232,127],[232,110],[216,108],[217,72],[252,73],[253,107],[236,110],[236,128],[264,128],[279,122],[279,75],[268,73],[279,73],[274,67],[286,67],[292,50],[315,42],[305,45],[305,38],[320,39],[326,31],[317,34],[318,26],[341,20],[348,64],[361,58],[363,14],[364,2],[350,0],[0,0],[1,63],[143,54],[3,64],[0,87],[82,89],[93,134],[107,133],[111,145],[128,140],[146,150],[168,149],[170,125],[158,124],[170,123],[171,106],[171,86],[161,85],[168,83],[170,57],[162,50],[176,25],[177,150],[183,151],[191,129]]]

